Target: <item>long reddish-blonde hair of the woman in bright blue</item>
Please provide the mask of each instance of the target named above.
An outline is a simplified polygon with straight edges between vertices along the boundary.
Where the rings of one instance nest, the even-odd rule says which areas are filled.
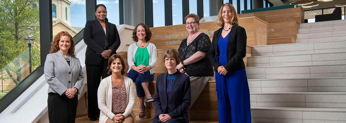
[[[222,9],[228,5],[229,8],[231,8],[232,11],[232,19],[231,19],[231,24],[234,25],[238,25],[238,15],[237,15],[237,11],[236,9],[233,7],[233,5],[231,3],[225,3],[221,6],[220,11],[219,11],[219,16],[218,16],[218,20],[217,20],[217,24],[221,27],[224,27],[224,19],[222,18]]]

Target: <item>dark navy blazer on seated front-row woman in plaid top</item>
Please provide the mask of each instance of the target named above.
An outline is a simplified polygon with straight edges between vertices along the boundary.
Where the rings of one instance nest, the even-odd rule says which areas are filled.
[[[188,108],[191,103],[190,77],[177,71],[169,99],[167,99],[167,75],[168,72],[160,74],[156,79],[154,95],[155,117],[160,114],[168,114],[172,119],[181,118],[189,122]]]

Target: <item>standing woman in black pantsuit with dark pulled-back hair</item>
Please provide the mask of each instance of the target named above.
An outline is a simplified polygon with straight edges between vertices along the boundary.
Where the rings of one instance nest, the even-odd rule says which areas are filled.
[[[116,54],[120,46],[120,37],[115,24],[109,23],[106,6],[95,7],[97,20],[87,21],[84,28],[84,42],[88,46],[85,52],[85,66],[88,83],[88,117],[95,121],[100,116],[97,103],[97,89],[107,74],[107,62]]]

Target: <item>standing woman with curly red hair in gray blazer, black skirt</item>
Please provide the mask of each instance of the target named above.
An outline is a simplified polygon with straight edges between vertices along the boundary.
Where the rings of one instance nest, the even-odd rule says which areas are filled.
[[[49,123],[74,123],[79,89],[84,75],[81,63],[74,54],[74,41],[65,31],[55,35],[46,57],[44,75],[48,87]]]

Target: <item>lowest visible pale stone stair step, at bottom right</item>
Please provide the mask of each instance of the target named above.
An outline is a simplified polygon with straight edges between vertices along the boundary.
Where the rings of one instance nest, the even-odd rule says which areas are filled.
[[[345,123],[345,108],[251,107],[252,122]]]

